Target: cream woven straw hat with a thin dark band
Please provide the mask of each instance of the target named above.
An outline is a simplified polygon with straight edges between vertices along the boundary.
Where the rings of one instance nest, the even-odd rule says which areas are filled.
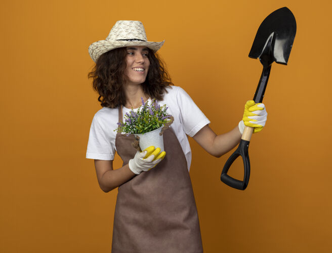
[[[99,56],[116,48],[144,46],[157,52],[164,41],[147,41],[144,26],[140,21],[119,20],[116,21],[106,39],[90,45],[89,54],[96,62]]]

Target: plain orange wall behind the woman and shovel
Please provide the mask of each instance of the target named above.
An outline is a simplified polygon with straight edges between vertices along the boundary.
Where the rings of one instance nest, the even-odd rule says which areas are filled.
[[[1,19],[1,252],[109,252],[117,191],[99,188],[86,159],[101,107],[87,78],[88,47],[116,20],[141,20],[183,87],[224,133],[241,119],[262,66],[256,31],[287,6],[297,19],[288,66],[273,64],[266,128],[250,146],[245,191],[220,182],[192,139],[205,252],[330,252],[330,1],[6,1]],[[120,165],[117,157],[115,167]],[[231,174],[240,178],[237,161]]]

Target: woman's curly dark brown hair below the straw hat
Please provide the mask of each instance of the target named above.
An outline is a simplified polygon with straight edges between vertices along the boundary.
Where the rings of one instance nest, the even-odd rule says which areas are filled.
[[[162,100],[166,87],[173,85],[164,63],[160,57],[149,50],[150,67],[145,81],[142,83],[143,92],[152,99]],[[93,70],[88,74],[93,78],[93,89],[98,92],[101,106],[116,108],[126,104],[123,92],[126,69],[126,48],[117,48],[102,54]]]

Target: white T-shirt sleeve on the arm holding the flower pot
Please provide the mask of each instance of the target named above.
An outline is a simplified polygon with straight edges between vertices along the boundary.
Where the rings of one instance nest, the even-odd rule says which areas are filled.
[[[115,149],[111,138],[112,137],[107,134],[105,126],[103,127],[95,115],[91,123],[86,158],[113,160]]]

